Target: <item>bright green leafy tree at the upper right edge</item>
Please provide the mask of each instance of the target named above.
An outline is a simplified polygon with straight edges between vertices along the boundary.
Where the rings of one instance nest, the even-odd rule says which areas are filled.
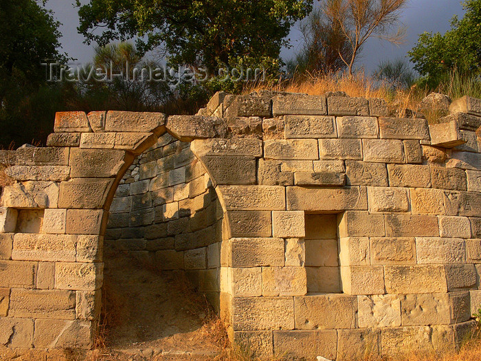
[[[414,69],[436,85],[452,69],[479,72],[481,69],[481,0],[463,4],[465,16],[451,19],[451,30],[444,35],[424,32],[408,52]]]

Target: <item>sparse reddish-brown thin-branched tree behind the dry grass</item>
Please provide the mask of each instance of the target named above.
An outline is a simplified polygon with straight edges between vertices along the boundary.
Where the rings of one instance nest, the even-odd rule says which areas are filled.
[[[407,0],[326,0],[323,7],[326,18],[339,26],[350,45],[349,56],[338,48],[339,57],[353,75],[353,65],[361,47],[372,36],[391,43],[403,41],[404,31],[399,28],[392,33],[392,27],[399,21],[399,12]]]

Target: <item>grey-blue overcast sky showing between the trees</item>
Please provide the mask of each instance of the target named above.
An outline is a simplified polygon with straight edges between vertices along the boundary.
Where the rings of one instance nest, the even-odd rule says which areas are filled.
[[[82,0],[82,3],[87,3]],[[317,1],[314,1],[317,3]],[[72,5],[74,0],[49,0],[47,8],[54,10],[55,18],[63,23],[60,27],[63,37],[60,42],[63,51],[69,56],[78,59],[80,63],[91,61],[93,46],[83,43],[83,36],[77,33],[78,14],[77,9]],[[367,72],[377,68],[380,61],[404,58],[408,50],[416,44],[418,34],[422,32],[441,32],[449,30],[449,20],[457,14],[463,14],[460,0],[408,0],[401,21],[407,28],[407,38],[404,45],[396,47],[386,41],[370,39],[363,47],[361,58],[357,62],[358,67],[364,67]],[[293,54],[300,47],[300,31],[296,24],[289,35],[291,49],[284,49],[281,56],[284,59],[293,57]]]

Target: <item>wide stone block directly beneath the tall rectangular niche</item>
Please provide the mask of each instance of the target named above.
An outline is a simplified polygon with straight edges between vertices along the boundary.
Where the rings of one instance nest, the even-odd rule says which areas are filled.
[[[323,294],[294,297],[296,329],[355,329],[357,297]]]

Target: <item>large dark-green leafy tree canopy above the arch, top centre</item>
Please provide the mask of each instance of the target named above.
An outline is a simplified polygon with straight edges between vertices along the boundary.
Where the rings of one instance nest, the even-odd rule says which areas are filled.
[[[79,7],[87,43],[107,45],[137,37],[144,54],[157,50],[172,64],[279,66],[279,52],[294,21],[312,0],[90,0]],[[98,28],[104,28],[100,34]]]

